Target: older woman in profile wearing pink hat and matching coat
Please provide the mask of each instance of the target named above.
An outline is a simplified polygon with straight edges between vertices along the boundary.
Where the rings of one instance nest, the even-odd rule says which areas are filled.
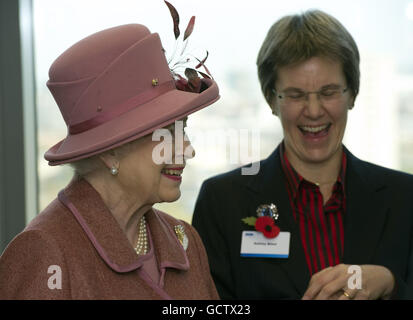
[[[158,34],[138,24],[57,58],[47,85],[68,135],[45,158],[75,175],[1,256],[0,299],[218,299],[197,232],[152,207],[180,197],[193,156],[175,121],[219,98],[213,80],[191,71],[199,90],[174,77]],[[161,128],[172,152],[159,163]]]

